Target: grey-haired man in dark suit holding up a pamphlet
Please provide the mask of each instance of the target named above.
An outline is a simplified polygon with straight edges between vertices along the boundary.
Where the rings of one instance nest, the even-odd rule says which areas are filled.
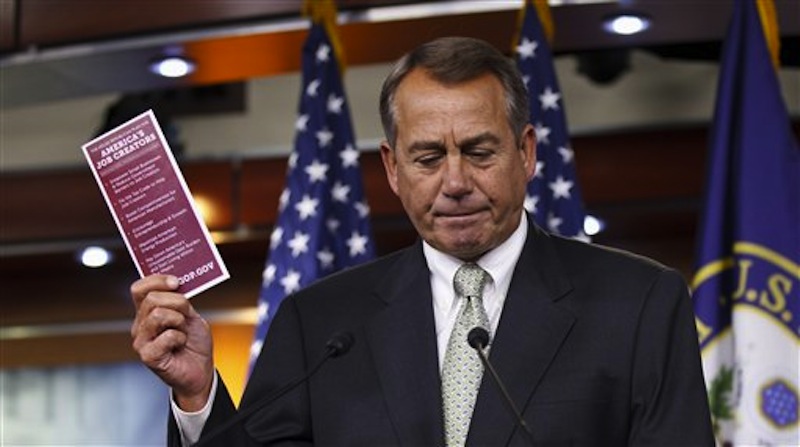
[[[452,354],[466,343],[459,328],[478,325],[536,445],[713,445],[686,284],[532,223],[527,111],[512,61],[484,42],[440,39],[398,62],[381,93],[381,155],[420,240],[288,297],[242,410],[302,376],[331,334],[350,332],[350,352],[215,442],[528,445],[490,377],[464,367],[476,360]],[[178,445],[237,410],[208,325],[175,287],[156,275],[131,291],[133,344],[172,387]]]

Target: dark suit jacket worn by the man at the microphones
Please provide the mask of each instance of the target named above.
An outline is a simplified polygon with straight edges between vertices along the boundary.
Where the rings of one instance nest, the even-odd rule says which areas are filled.
[[[429,275],[417,243],[287,298],[242,408],[302,376],[334,332],[355,344],[214,445],[442,445]],[[531,225],[490,360],[537,445],[713,445],[688,288],[655,262]],[[485,374],[467,445],[527,445],[504,405]],[[220,386],[204,434],[235,411]]]

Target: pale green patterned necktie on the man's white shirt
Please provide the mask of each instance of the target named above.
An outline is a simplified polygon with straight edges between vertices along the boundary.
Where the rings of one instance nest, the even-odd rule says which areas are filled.
[[[463,446],[467,439],[472,408],[483,376],[478,354],[467,343],[467,334],[476,326],[489,330],[483,308],[483,286],[489,275],[477,264],[464,264],[453,279],[456,298],[464,298],[442,367],[445,445]]]

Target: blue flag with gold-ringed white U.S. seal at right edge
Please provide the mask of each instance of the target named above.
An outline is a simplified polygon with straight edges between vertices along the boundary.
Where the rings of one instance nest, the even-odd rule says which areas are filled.
[[[800,149],[754,0],[735,3],[720,70],[693,280],[714,427],[800,445]]]

